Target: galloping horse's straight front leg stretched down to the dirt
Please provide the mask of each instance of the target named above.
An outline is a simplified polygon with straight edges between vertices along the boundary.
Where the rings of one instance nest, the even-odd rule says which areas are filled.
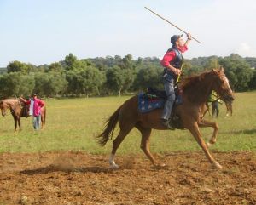
[[[190,133],[194,136],[198,145],[200,145],[202,150],[205,152],[209,162],[211,162],[216,168],[222,168],[222,166],[211,156],[210,152],[208,151],[205,141],[201,138],[201,133],[199,131],[197,122],[190,124],[188,126],[188,129],[189,129]]]

